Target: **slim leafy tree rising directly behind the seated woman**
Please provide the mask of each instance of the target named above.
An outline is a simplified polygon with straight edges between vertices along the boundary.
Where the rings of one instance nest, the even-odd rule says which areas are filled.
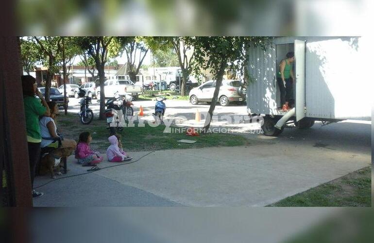
[[[50,101],[50,89],[53,75],[59,72],[59,58],[61,58],[62,45],[61,37],[51,37],[51,36],[34,36],[35,43],[37,44],[37,49],[41,54],[41,62],[44,66],[48,68],[47,80],[46,80],[46,91],[45,99]],[[31,39],[30,39],[31,41]]]

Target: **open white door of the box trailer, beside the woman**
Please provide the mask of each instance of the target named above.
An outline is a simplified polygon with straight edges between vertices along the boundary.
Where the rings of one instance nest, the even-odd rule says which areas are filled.
[[[303,119],[306,115],[305,103],[305,41],[295,40],[295,78],[296,78],[296,121]]]

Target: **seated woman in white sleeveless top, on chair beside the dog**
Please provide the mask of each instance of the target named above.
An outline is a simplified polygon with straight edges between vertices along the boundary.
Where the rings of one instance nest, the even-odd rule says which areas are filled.
[[[53,101],[47,102],[48,106],[51,110],[50,116],[44,116],[39,120],[39,127],[40,127],[40,134],[42,136],[42,142],[40,147],[58,147],[58,140],[53,139],[43,139],[43,138],[60,138],[57,134],[57,126],[55,123],[56,115],[59,113],[57,104]],[[67,147],[71,149],[75,149],[77,146],[77,142],[73,139],[63,139],[61,140],[61,147]]]

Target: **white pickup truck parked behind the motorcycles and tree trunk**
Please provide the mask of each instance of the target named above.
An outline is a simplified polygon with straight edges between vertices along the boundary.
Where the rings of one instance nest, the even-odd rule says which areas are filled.
[[[134,98],[138,98],[142,94],[141,86],[134,85],[130,80],[107,80],[104,83],[105,98],[113,98],[118,92],[120,95],[129,94]],[[100,86],[96,88],[96,97],[100,99]]]

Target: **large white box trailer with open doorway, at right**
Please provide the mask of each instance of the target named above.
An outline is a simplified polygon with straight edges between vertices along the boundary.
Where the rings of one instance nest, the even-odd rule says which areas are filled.
[[[275,37],[266,50],[250,47],[249,115],[263,117],[268,136],[279,135],[286,123],[308,128],[314,121],[371,120],[373,75],[366,68],[366,43],[363,37]],[[295,55],[294,107],[282,111],[276,78],[288,52]]]

